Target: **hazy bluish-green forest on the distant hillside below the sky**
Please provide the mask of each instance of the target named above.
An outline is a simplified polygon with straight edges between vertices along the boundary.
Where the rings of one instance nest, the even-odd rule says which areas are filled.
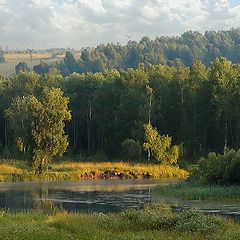
[[[145,66],[163,64],[180,67],[191,66],[201,60],[206,66],[218,57],[225,57],[233,63],[240,59],[240,29],[229,31],[185,32],[177,37],[157,37],[151,40],[143,37],[139,42],[129,41],[120,44],[101,44],[95,49],[82,51],[80,59],[69,53],[64,61],[54,64],[64,76],[73,72],[105,72],[109,69],[136,68],[139,63]],[[40,64],[38,73],[46,72],[48,67]]]

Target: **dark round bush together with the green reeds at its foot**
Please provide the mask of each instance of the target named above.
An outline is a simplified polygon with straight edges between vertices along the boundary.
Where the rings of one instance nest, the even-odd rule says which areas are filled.
[[[240,152],[225,148],[209,153],[192,169],[185,183],[159,186],[156,194],[191,200],[240,200]]]

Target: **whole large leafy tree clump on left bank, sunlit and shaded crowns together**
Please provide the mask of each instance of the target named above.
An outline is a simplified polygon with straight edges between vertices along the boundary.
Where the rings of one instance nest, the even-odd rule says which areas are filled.
[[[68,99],[60,89],[44,88],[40,99],[33,95],[17,97],[6,115],[19,149],[30,155],[36,173],[46,170],[53,156],[66,151],[64,122],[71,119],[71,114]]]

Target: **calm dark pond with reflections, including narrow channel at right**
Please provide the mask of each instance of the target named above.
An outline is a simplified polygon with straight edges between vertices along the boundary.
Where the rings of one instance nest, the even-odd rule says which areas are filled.
[[[176,180],[84,180],[52,183],[0,183],[0,208],[9,211],[118,212],[161,202],[173,211],[198,208],[205,213],[229,216],[240,222],[239,201],[193,201],[154,193],[160,184]]]

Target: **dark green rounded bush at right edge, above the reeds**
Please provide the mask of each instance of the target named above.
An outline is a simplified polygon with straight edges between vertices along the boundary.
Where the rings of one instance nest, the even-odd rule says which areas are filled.
[[[225,149],[223,154],[209,153],[199,160],[193,180],[204,184],[240,184],[240,151]]]

